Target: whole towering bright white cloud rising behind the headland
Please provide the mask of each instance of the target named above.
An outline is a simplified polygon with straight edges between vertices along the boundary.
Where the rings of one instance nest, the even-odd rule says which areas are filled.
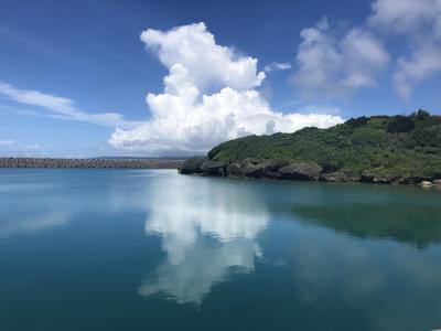
[[[169,68],[162,94],[147,95],[151,119],[131,130],[117,129],[118,149],[205,152],[246,135],[292,132],[342,122],[338,116],[273,111],[255,87],[265,78],[257,60],[216,44],[205,24],[170,31],[147,30],[141,40]]]

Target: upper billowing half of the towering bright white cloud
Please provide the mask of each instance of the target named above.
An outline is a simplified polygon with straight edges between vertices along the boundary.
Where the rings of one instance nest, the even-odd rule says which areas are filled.
[[[248,89],[265,79],[265,73],[257,73],[256,58],[239,56],[234,50],[216,44],[204,23],[166,32],[149,29],[141,33],[141,41],[158,54],[164,66],[171,68],[181,64],[185,67],[201,92],[218,86]]]

